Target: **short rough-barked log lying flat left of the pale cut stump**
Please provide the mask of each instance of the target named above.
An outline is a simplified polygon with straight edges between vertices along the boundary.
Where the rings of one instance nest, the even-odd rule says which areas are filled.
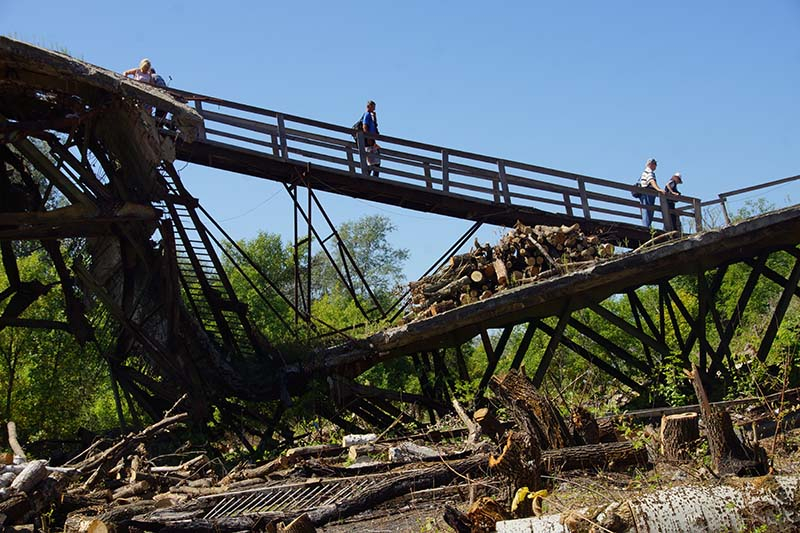
[[[589,468],[625,469],[649,463],[647,450],[636,448],[632,442],[610,442],[572,446],[542,452],[542,465],[547,472]]]

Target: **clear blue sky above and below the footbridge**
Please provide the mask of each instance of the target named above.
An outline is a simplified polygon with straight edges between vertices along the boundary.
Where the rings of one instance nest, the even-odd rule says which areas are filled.
[[[702,199],[800,173],[800,0],[0,0],[0,33],[117,71],[149,57],[172,86],[345,126],[371,98],[383,133],[624,183],[652,156],[662,185],[680,170]],[[291,238],[282,187],[182,175],[234,237]],[[323,196],[337,222],[389,216],[409,278],[470,225]]]

